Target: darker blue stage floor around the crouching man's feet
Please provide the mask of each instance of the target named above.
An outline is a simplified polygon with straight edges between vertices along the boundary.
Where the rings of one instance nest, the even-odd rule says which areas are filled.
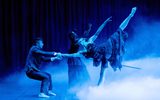
[[[77,100],[75,94],[68,93],[66,80],[53,79],[53,92],[56,96],[47,99],[38,97],[40,84],[40,81],[29,79],[22,73],[9,76],[0,82],[0,100]]]

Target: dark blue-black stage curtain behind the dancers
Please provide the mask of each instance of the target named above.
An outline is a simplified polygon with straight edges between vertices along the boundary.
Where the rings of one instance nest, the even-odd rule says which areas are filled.
[[[82,35],[92,23],[92,35],[109,16],[109,23],[99,40],[113,33],[137,6],[135,17],[127,27],[132,35],[134,20],[160,19],[159,0],[1,0],[0,1],[0,77],[23,69],[32,39],[41,36],[44,49],[68,52],[68,32],[76,28]]]

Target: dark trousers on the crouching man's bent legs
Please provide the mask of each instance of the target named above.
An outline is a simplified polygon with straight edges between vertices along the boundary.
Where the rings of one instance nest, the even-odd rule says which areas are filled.
[[[40,92],[47,94],[48,90],[52,90],[52,77],[49,73],[30,70],[26,74],[31,79],[42,81]]]

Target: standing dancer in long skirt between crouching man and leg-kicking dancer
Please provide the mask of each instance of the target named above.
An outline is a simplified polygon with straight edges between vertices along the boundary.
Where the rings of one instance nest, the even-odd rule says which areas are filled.
[[[98,34],[102,31],[103,27],[111,21],[111,17],[109,17],[107,20],[103,22],[103,24],[98,28],[97,32],[92,36],[92,39],[96,39],[98,37]],[[89,29],[85,31],[84,35],[88,35],[88,33],[91,30],[91,24],[88,25]],[[79,52],[80,47],[80,41],[81,39],[86,38],[79,38],[78,35],[72,31],[69,34],[69,39],[71,41],[71,47],[69,50],[69,54],[62,54],[65,57],[68,58],[68,78],[69,78],[69,86],[75,87],[84,85],[89,80],[89,74],[86,69],[86,66],[82,62],[81,58],[79,56],[72,56],[74,53]],[[87,39],[86,39],[87,40]]]

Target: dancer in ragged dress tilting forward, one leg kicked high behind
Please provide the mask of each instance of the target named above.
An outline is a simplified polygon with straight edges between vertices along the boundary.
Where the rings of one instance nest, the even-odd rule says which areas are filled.
[[[101,63],[101,72],[98,85],[100,85],[103,80],[105,69],[108,67],[108,62],[110,62],[110,65],[114,71],[116,71],[117,68],[121,70],[122,56],[124,55],[125,51],[125,41],[128,37],[128,34],[123,30],[128,25],[130,19],[134,16],[136,9],[136,7],[132,8],[129,16],[120,24],[118,30],[111,35],[111,37],[107,39],[105,43],[101,45],[94,44],[94,41],[97,38],[95,38],[95,36],[92,36],[88,40],[81,38],[79,39],[78,43],[83,45],[87,51],[80,51],[77,54],[71,55],[80,56],[80,54],[83,54],[87,58],[93,58],[94,66],[98,66]]]

